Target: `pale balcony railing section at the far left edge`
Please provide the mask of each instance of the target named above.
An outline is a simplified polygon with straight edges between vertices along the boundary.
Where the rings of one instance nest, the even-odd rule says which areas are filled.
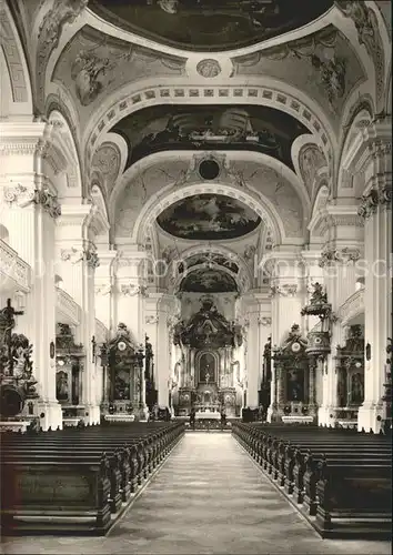
[[[17,251],[0,239],[0,285],[4,290],[29,292],[31,285],[31,268]]]

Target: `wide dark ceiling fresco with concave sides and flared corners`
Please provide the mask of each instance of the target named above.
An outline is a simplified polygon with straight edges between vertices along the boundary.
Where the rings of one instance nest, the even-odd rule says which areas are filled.
[[[163,150],[248,150],[276,158],[293,170],[291,147],[310,131],[292,115],[258,105],[154,105],[112,129],[128,143],[127,168]]]

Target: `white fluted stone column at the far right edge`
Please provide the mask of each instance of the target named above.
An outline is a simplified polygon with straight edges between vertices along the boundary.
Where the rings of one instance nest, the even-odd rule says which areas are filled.
[[[370,345],[370,359],[365,359],[364,403],[359,410],[357,427],[374,433],[380,432],[381,421],[386,416],[381,397],[384,394],[387,337],[392,337],[391,130],[389,133],[390,138],[384,141],[372,142],[369,159],[372,188],[363,196],[359,210],[365,220],[365,344]]]

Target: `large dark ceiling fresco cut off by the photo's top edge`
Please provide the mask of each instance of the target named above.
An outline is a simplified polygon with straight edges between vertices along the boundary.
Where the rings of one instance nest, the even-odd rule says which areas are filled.
[[[332,0],[90,0],[107,21],[184,50],[246,47],[310,23]]]

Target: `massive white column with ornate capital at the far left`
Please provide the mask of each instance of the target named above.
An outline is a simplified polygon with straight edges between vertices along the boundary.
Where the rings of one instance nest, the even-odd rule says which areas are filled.
[[[50,343],[56,339],[54,222],[60,215],[57,191],[42,169],[50,134],[51,127],[46,123],[1,123],[1,223],[10,232],[12,248],[32,269],[26,317],[18,331],[33,345],[33,374],[40,395],[34,411],[44,431],[62,427],[56,398],[56,360],[50,357]]]

